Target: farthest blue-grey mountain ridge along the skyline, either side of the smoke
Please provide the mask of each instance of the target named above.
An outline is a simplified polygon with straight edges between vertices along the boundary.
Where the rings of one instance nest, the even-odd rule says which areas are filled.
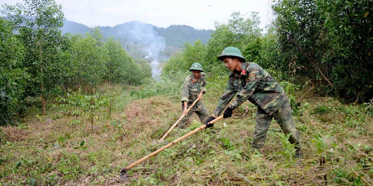
[[[205,29],[198,30],[186,25],[171,25],[167,28],[159,28],[157,26],[138,21],[131,21],[116,25],[114,27],[99,26],[99,28],[103,33],[104,38],[114,36],[114,38],[119,39],[122,42],[126,42],[131,41],[131,38],[128,38],[129,36],[131,36],[131,34],[128,33],[130,33],[132,29],[134,29],[134,25],[153,27],[157,34],[165,39],[166,46],[177,48],[181,48],[185,44],[185,42],[193,44],[197,39],[201,39],[201,41],[206,44],[206,42],[210,39],[210,33],[212,31]],[[85,26],[81,23],[66,20],[63,24],[63,27],[61,28],[61,31],[63,34],[66,32],[72,34],[85,34],[86,32],[89,32],[90,29],[90,27]]]

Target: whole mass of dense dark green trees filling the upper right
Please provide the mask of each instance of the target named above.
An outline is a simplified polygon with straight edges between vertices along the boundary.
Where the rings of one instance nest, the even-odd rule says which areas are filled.
[[[334,87],[346,100],[372,98],[373,0],[278,0],[272,7],[282,70],[296,62],[304,80]]]

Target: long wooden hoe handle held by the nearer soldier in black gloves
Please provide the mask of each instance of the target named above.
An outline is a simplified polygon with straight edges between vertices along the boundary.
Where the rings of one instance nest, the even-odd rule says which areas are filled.
[[[223,115],[219,116],[218,118],[214,119],[213,121],[210,121],[209,124],[213,124],[213,123],[219,121],[219,120],[222,119],[222,118],[223,118]],[[145,161],[147,158],[150,158],[150,157],[152,157],[153,155],[158,154],[159,152],[165,150],[166,148],[171,147],[172,145],[176,144],[177,142],[179,142],[179,141],[181,141],[181,140],[184,140],[185,138],[189,137],[190,135],[192,135],[192,134],[194,134],[194,133],[196,133],[196,132],[198,132],[198,131],[200,131],[200,130],[202,130],[202,129],[204,129],[204,128],[206,128],[206,125],[202,125],[202,126],[196,128],[196,129],[194,129],[193,131],[189,132],[188,134],[185,134],[184,136],[182,136],[182,137],[176,139],[175,141],[170,142],[170,143],[167,144],[166,146],[164,146],[164,147],[162,147],[162,148],[160,148],[160,149],[154,151],[153,153],[151,153],[151,154],[149,154],[149,155],[147,155],[147,156],[141,158],[140,160],[137,160],[135,163],[132,163],[131,165],[129,165],[129,166],[123,168],[122,170],[120,170],[120,173],[123,173],[123,172],[125,172],[125,171],[131,169],[132,167],[136,166],[137,164],[141,163],[142,161]]]

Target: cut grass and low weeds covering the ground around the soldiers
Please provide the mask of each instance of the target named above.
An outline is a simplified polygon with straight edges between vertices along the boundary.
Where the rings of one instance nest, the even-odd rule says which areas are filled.
[[[209,80],[211,86],[226,82]],[[305,156],[299,165],[275,121],[264,147],[250,150],[256,108],[245,102],[232,118],[133,167],[123,182],[119,170],[162,147],[155,141],[181,115],[180,86],[162,92],[174,83],[156,82],[145,86],[149,91],[101,87],[98,91],[120,102],[112,110],[116,125],[99,120],[94,133],[85,122],[74,129],[71,118],[52,120],[57,109],[46,116],[36,110],[17,127],[1,127],[0,185],[373,185],[372,105],[345,105],[311,94],[312,87],[294,95]],[[210,113],[219,99],[215,94],[224,87],[211,86],[203,97]],[[165,141],[200,125],[194,114],[186,130],[170,132]]]

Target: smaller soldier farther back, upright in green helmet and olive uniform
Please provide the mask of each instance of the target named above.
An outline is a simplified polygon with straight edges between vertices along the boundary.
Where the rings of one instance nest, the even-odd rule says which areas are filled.
[[[202,65],[198,62],[193,63],[189,71],[192,71],[192,74],[185,78],[182,90],[181,102],[183,104],[181,108],[183,110],[182,114],[185,114],[185,116],[178,125],[179,130],[185,129],[185,124],[188,122],[193,112],[198,115],[201,122],[204,122],[206,118],[210,116],[209,111],[201,101],[202,95],[206,93],[206,78],[203,73]],[[194,103],[197,97],[200,100],[187,112],[187,109]]]

